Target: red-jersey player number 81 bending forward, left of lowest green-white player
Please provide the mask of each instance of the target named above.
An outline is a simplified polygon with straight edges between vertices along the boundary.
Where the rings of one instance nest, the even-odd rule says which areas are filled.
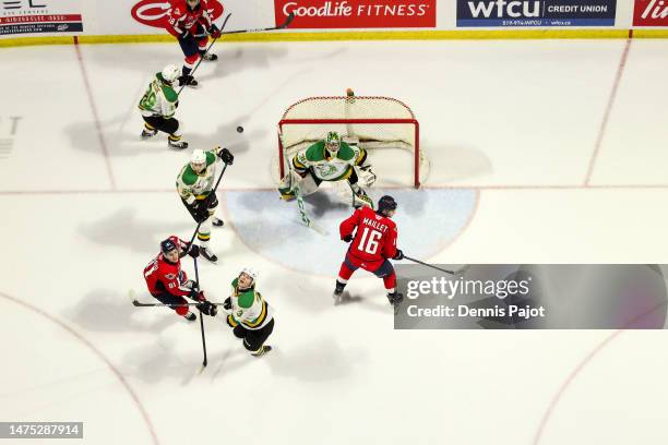
[[[198,309],[206,315],[215,316],[217,308],[204,298],[204,292],[181,270],[181,257],[187,253],[196,258],[200,255],[198,245],[189,245],[178,237],[169,237],[160,242],[160,253],[144,268],[144,279],[151,294],[165,304],[175,304],[171,309],[192,322],[198,317],[188,310],[188,297],[199,301]],[[182,305],[176,305],[182,304]]]

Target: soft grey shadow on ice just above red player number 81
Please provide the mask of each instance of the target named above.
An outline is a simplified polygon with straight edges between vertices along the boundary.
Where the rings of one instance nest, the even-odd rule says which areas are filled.
[[[189,233],[192,224],[186,218],[179,224],[160,221],[162,231],[155,230],[156,221],[142,220],[136,216],[136,209],[124,207],[105,216],[96,222],[82,224],[79,232],[87,240],[103,245],[127,248],[133,252],[156,254],[156,246],[165,238],[165,233]],[[147,260],[146,260],[147,261]]]

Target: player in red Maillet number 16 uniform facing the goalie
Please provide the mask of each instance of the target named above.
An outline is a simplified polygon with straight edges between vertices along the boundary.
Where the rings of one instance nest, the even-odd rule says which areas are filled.
[[[341,239],[353,243],[348,248],[346,258],[341,264],[334,299],[339,301],[348,279],[359,267],[373,273],[383,279],[387,300],[398,304],[403,296],[394,288],[396,274],[387,260],[402,260],[404,254],[396,249],[396,224],[391,219],[396,212],[396,201],[392,196],[383,196],[378,202],[378,211],[365,206],[355,211],[353,216],[339,226]],[[357,231],[356,231],[357,230]],[[353,233],[355,232],[355,234]]]

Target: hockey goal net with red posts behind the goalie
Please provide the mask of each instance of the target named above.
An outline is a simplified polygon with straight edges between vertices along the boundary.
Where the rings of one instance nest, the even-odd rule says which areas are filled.
[[[367,151],[379,182],[383,177],[389,182],[403,179],[417,189],[427,175],[429,163],[420,151],[419,124],[408,106],[391,97],[329,96],[299,100],[283,115],[278,122],[281,178],[297,152],[330,131]],[[407,151],[409,157],[401,159],[393,149]]]

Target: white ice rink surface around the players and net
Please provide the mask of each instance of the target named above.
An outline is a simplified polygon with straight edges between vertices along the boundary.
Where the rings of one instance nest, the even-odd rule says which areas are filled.
[[[415,111],[431,163],[415,191],[406,153],[373,155],[371,194],[397,197],[407,254],[668,263],[667,40],[216,50],[177,115],[191,147],[235,154],[218,192],[226,227],[212,236],[220,261],[200,279],[219,301],[242,266],[259,269],[275,350],[251,358],[206,318],[198,375],[199,324],[127,296],[144,290],[159,241],[194,228],[174,190],[190,151],[139,140],[136,103],[154,72],[180,63],[178,46],[3,48],[0,420],[83,421],[86,444],[668,441],[666,333],[395,332],[369,274],[348,286],[359,301],[332,304],[349,209],[310,199],[330,231],[318,234],[277,200],[271,171],[290,104],[346,87],[392,96]]]

